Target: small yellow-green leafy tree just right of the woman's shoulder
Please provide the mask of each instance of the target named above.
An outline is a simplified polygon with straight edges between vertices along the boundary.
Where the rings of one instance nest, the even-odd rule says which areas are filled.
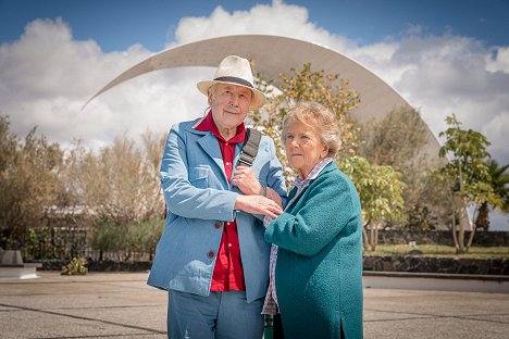
[[[400,180],[401,174],[392,166],[372,165],[361,156],[345,158],[339,168],[351,178],[359,191],[364,250],[374,251],[378,228],[386,222],[404,218],[406,184]]]

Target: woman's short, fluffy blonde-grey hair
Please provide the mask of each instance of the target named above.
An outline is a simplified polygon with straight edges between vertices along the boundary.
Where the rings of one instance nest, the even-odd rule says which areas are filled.
[[[301,122],[319,131],[323,145],[328,148],[327,156],[334,158],[342,147],[336,116],[326,106],[316,102],[298,102],[291,108],[284,122],[282,141],[285,142],[289,125]]]

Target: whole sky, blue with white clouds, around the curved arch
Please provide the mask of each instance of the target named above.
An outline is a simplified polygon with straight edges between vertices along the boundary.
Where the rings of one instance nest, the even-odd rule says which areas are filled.
[[[509,163],[509,0],[0,0],[0,114],[18,136],[38,126],[63,147],[165,133],[201,115],[196,83],[213,70],[154,72],[80,108],[154,52],[238,34],[342,52],[393,86],[435,135],[455,113]],[[500,227],[509,228],[507,217]]]

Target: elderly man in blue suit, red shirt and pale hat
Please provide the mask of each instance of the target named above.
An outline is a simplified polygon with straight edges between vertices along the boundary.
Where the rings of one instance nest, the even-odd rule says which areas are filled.
[[[250,109],[265,97],[248,60],[229,55],[198,83],[210,111],[172,127],[161,164],[169,208],[148,284],[169,290],[170,338],[261,338],[270,244],[263,217],[282,213],[286,188],[272,139],[238,166]]]

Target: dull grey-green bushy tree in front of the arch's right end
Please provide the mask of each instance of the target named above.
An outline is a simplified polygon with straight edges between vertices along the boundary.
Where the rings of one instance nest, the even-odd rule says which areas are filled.
[[[383,118],[364,124],[359,135],[359,154],[375,165],[388,165],[401,173],[406,223],[395,226],[434,229],[451,210],[439,203],[446,196],[430,180],[437,166],[426,152],[427,127],[412,108],[394,109]],[[398,225],[399,224],[399,225]]]

